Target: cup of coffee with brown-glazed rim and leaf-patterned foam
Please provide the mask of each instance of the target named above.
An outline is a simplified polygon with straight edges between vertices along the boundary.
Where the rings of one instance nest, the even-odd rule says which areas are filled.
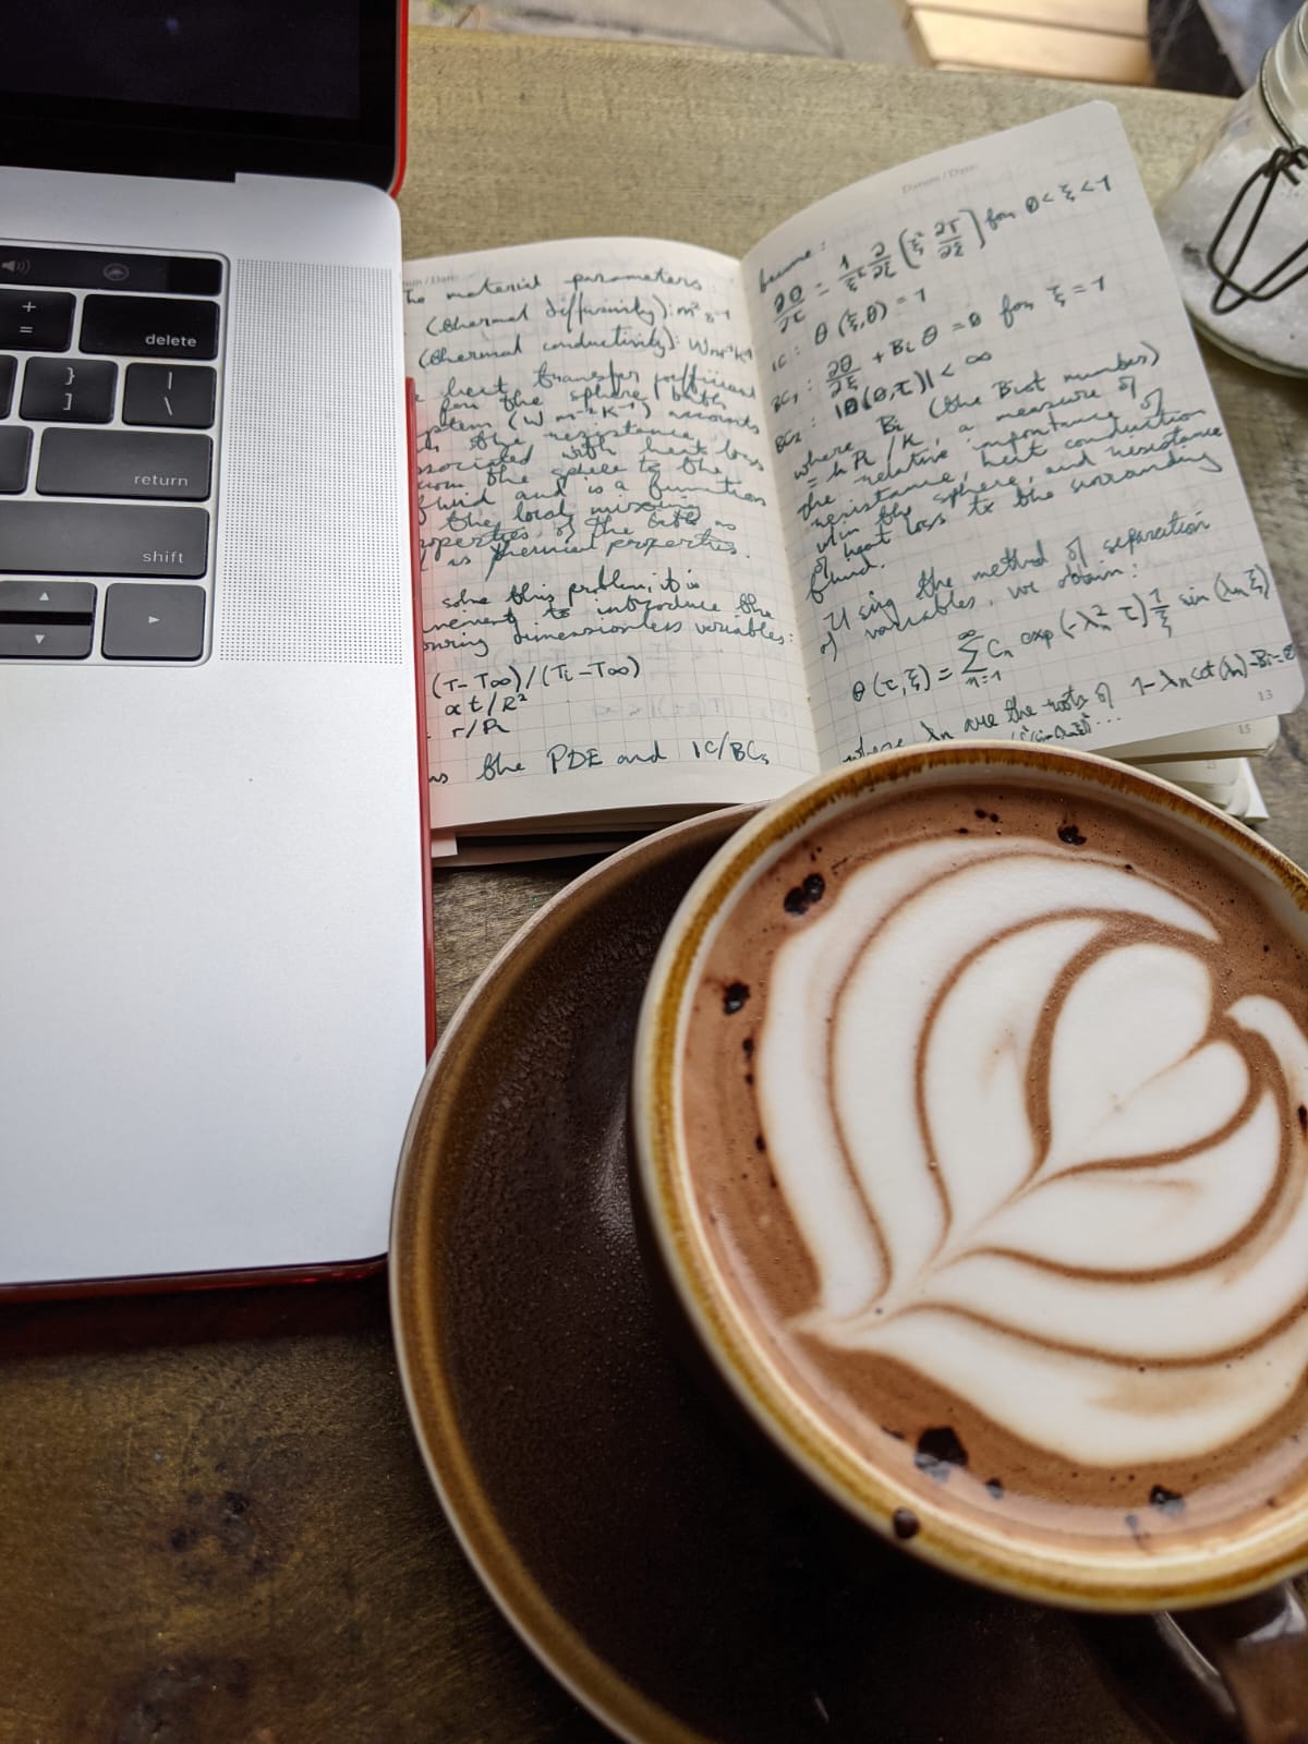
[[[1303,872],[1076,752],[848,764],[687,893],[631,1111],[656,1268],[788,1465],[964,1578],[1195,1611],[1247,1735],[1308,1735]]]

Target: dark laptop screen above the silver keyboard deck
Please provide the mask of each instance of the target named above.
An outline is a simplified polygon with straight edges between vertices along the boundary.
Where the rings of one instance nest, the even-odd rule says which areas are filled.
[[[40,0],[5,38],[0,162],[394,178],[396,0]]]

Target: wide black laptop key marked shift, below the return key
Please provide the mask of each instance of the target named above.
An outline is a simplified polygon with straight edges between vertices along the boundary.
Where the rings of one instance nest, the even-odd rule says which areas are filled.
[[[204,574],[208,509],[0,502],[0,570],[24,576]]]

